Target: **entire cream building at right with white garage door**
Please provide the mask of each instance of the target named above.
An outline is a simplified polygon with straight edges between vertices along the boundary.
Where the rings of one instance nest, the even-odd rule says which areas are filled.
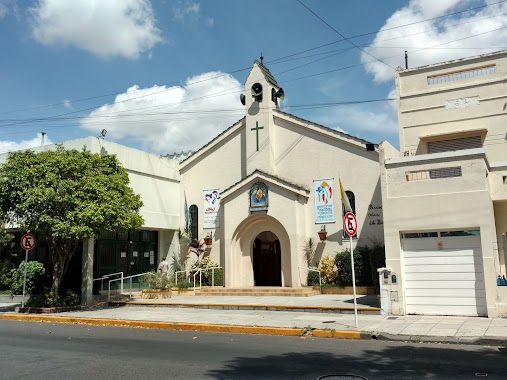
[[[507,52],[396,73],[400,151],[380,146],[393,314],[507,313]],[[502,242],[503,240],[503,242]]]

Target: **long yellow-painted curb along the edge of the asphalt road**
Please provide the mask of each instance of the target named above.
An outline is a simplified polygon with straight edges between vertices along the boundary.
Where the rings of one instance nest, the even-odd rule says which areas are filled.
[[[25,322],[55,322],[55,323],[74,323],[95,326],[114,326],[114,327],[141,327],[148,329],[163,330],[190,330],[206,332],[226,332],[234,334],[257,334],[257,335],[284,335],[284,336],[311,336],[318,338],[334,339],[371,339],[370,334],[362,333],[356,330],[318,330],[313,329],[303,334],[304,329],[289,327],[261,327],[261,326],[238,326],[238,325],[217,325],[204,323],[185,323],[185,322],[154,322],[154,321],[133,321],[123,319],[106,318],[81,318],[81,317],[59,317],[54,315],[34,315],[34,314],[2,314],[0,319],[25,321]]]

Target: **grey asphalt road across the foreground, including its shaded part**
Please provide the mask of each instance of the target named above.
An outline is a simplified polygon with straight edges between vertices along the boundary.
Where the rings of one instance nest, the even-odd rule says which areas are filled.
[[[496,347],[0,321],[0,379],[506,379],[506,363]]]

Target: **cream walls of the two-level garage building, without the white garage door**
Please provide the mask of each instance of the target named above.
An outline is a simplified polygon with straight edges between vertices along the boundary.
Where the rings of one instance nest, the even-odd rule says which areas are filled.
[[[495,73],[479,71],[492,65]],[[442,75],[451,80],[428,82]],[[400,273],[401,291],[401,233],[478,227],[489,316],[507,310],[495,280],[507,228],[506,79],[506,51],[397,71],[400,152],[384,142],[380,157],[386,261]],[[481,136],[483,147],[427,154],[428,142],[468,136]],[[449,167],[460,167],[461,175],[430,178],[430,170]],[[394,313],[404,314],[403,298]]]

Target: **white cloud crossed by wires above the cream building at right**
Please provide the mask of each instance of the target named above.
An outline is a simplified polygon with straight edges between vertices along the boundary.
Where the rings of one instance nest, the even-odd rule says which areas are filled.
[[[501,50],[507,39],[507,3],[494,3],[496,1],[490,0],[480,3],[470,0],[411,0],[406,7],[393,13],[366,51],[392,67],[405,67],[404,51],[407,50],[409,67],[418,67]],[[486,4],[491,6],[417,23]],[[417,24],[389,30],[411,23]],[[466,38],[471,36],[475,37]],[[428,49],[430,47],[432,49]],[[472,47],[487,49],[470,49]],[[361,61],[372,62],[366,65],[366,70],[374,75],[376,82],[394,79],[391,67],[375,61],[368,54],[362,53]]]

